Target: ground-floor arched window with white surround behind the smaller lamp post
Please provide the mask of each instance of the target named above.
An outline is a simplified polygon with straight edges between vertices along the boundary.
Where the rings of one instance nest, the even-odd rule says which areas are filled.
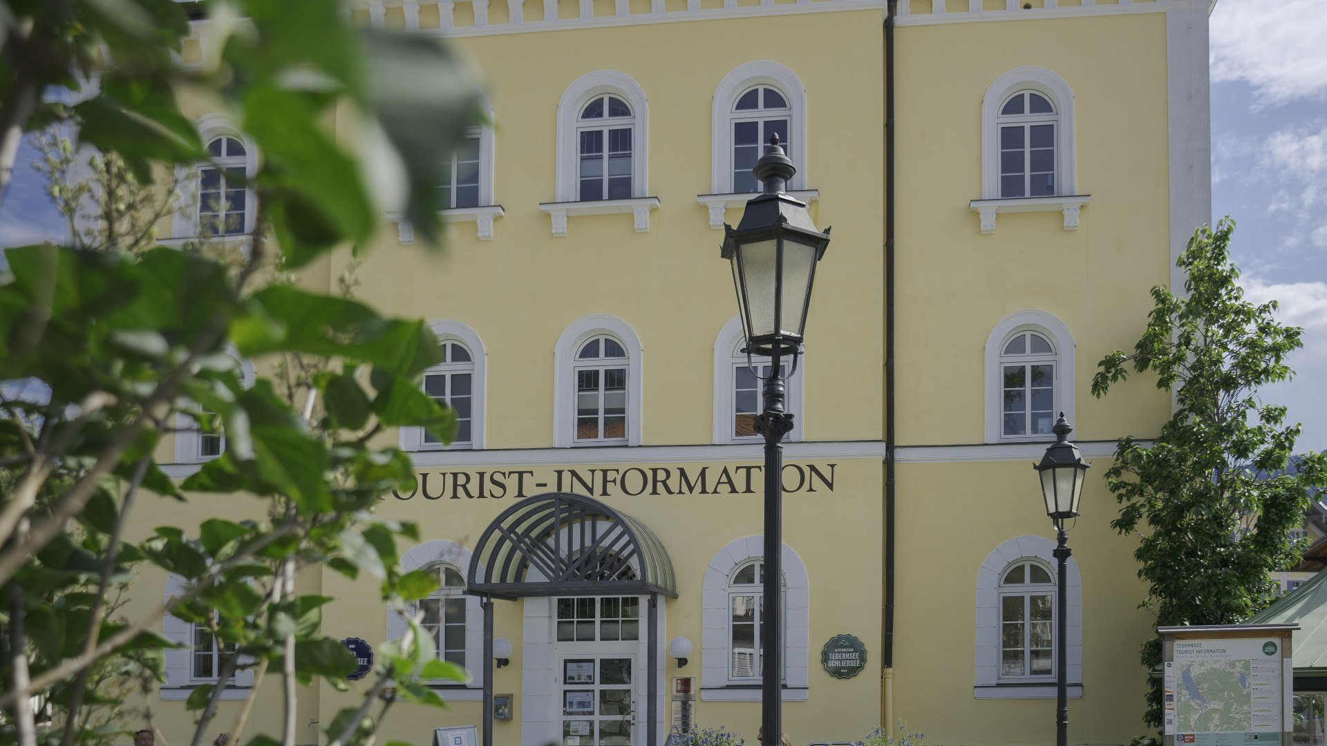
[[[1015,536],[977,569],[978,698],[1055,697],[1055,542]],[[1070,558],[1066,583],[1066,670],[1070,696],[1083,696],[1083,581]]]

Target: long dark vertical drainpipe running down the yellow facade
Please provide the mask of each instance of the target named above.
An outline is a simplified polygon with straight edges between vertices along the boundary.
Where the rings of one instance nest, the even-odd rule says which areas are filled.
[[[894,734],[894,19],[898,0],[885,13],[885,733]]]

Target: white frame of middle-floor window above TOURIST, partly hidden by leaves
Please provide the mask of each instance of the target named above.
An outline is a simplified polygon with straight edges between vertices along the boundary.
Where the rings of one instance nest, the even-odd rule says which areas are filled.
[[[466,433],[456,433],[456,441],[450,446],[433,441],[423,427],[402,427],[401,429],[401,449],[407,451],[426,451],[426,450],[446,450],[446,449],[483,449],[484,447],[484,402],[487,401],[486,381],[488,376],[488,354],[484,352],[484,344],[468,325],[454,321],[454,320],[441,320],[429,324],[439,345],[443,345],[447,350],[447,361],[435,365],[423,373],[423,388],[430,396],[437,396],[438,398],[447,398],[455,396],[454,386],[459,384],[464,376],[468,376],[470,394],[468,401],[468,422],[470,433],[468,438],[463,438]],[[454,350],[456,348],[449,348],[447,345],[459,345],[466,356],[470,357],[468,361],[460,360],[460,354]],[[462,402],[458,401],[458,414],[463,414],[459,406]]]

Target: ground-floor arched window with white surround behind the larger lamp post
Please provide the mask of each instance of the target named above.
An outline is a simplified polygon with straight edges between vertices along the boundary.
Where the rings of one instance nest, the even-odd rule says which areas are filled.
[[[760,680],[760,625],[764,601],[764,539],[744,536],[730,542],[705,571],[701,648],[703,700],[760,701],[751,684]],[[807,568],[787,544],[783,547],[783,700],[805,701],[811,628],[811,584]]]

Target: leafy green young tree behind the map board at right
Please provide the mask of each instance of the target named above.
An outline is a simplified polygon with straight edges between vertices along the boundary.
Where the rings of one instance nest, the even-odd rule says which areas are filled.
[[[1174,396],[1160,437],[1121,438],[1105,473],[1120,503],[1111,526],[1139,538],[1141,607],[1158,625],[1238,623],[1265,607],[1269,573],[1296,560],[1289,531],[1303,522],[1310,490],[1327,483],[1323,454],[1286,473],[1300,426],[1258,389],[1292,376],[1285,358],[1302,346],[1302,329],[1277,323],[1275,301],[1245,300],[1230,261],[1233,231],[1226,218],[1194,234],[1177,261],[1185,293],[1153,288],[1156,307],[1133,353],[1105,356],[1092,380],[1101,397],[1129,368],[1147,370]],[[1160,638],[1143,644],[1141,661],[1149,674],[1161,665]],[[1147,704],[1147,723],[1160,726],[1160,678],[1149,676]]]

